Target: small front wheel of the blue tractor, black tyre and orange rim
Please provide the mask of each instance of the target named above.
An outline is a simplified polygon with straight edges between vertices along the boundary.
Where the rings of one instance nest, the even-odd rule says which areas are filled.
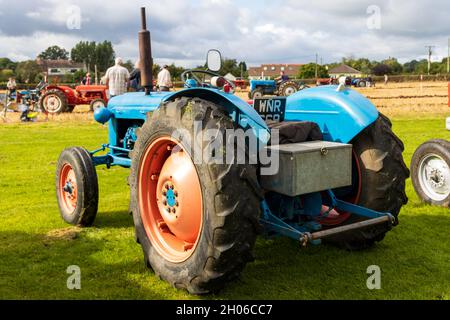
[[[65,149],[56,168],[56,197],[61,217],[69,224],[88,227],[98,209],[97,172],[86,149]]]

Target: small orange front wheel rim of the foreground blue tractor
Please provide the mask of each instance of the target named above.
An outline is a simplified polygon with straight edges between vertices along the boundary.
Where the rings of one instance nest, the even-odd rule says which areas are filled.
[[[78,186],[75,171],[66,163],[61,168],[59,178],[59,193],[61,204],[67,212],[74,212],[77,207]]]

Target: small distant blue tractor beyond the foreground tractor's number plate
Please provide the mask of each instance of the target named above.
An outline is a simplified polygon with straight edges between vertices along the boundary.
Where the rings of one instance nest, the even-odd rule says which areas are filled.
[[[262,98],[265,95],[288,97],[307,87],[304,83],[297,83],[292,80],[250,80],[248,97],[250,99]]]

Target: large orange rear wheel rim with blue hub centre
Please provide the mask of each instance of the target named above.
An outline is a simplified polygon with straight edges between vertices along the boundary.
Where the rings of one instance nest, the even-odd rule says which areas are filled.
[[[142,223],[153,247],[174,263],[197,247],[203,223],[200,180],[190,155],[171,137],[145,150],[138,175]]]

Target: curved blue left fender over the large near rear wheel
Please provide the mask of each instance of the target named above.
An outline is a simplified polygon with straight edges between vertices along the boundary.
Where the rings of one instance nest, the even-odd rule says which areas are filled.
[[[266,144],[270,139],[270,130],[261,116],[245,101],[234,94],[225,93],[217,89],[190,88],[166,96],[163,101],[173,101],[179,97],[195,97],[211,101],[224,107],[231,118],[245,129],[253,129],[256,137]]]

